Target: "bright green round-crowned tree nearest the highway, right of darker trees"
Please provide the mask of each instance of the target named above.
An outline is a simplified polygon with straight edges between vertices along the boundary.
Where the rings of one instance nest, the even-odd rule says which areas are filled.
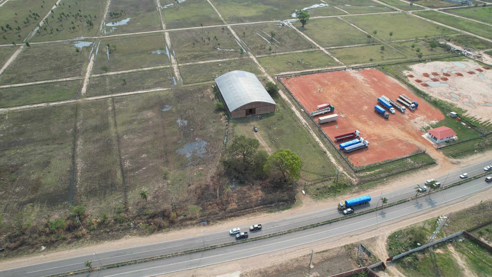
[[[289,149],[278,149],[267,159],[265,172],[278,171],[285,179],[299,181],[303,162],[299,156]]]

